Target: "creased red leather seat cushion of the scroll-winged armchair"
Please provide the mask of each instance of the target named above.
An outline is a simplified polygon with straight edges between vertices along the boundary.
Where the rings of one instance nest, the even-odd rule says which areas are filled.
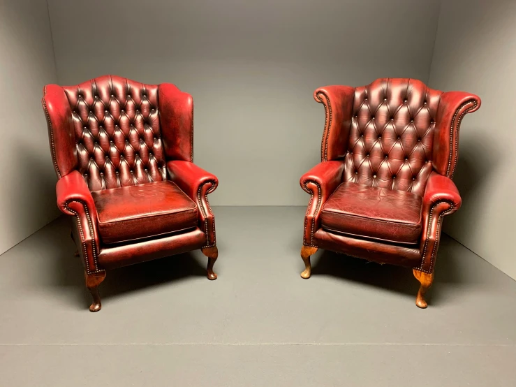
[[[422,198],[408,191],[342,183],[323,205],[321,226],[337,233],[395,242],[420,242]]]

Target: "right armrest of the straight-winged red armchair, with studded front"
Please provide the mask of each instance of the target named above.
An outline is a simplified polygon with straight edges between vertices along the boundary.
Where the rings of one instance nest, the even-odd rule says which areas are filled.
[[[205,231],[207,245],[216,244],[215,217],[209,207],[207,195],[215,191],[219,180],[189,161],[169,161],[167,163],[170,180],[175,182],[199,209],[199,228]]]

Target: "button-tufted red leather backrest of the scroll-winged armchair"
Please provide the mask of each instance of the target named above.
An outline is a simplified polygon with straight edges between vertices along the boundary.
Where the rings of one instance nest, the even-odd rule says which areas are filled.
[[[419,80],[382,78],[355,89],[344,182],[423,195],[441,92]]]

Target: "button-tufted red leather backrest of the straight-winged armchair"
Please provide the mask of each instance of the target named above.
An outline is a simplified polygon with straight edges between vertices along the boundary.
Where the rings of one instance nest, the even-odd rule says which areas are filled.
[[[166,179],[158,85],[106,75],[63,89],[91,191]]]

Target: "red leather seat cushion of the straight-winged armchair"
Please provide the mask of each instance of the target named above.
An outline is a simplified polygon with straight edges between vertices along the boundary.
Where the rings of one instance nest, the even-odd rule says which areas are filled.
[[[98,232],[106,244],[195,228],[196,203],[169,181],[92,191]]]

